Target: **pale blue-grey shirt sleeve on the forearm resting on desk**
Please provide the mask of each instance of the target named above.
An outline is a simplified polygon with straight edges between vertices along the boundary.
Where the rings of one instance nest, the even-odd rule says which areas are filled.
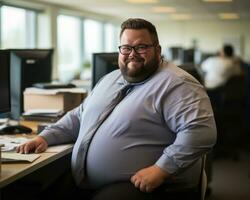
[[[56,145],[74,142],[77,139],[80,118],[83,111],[83,103],[77,108],[69,111],[57,123],[45,128],[39,135],[42,136],[48,145]]]

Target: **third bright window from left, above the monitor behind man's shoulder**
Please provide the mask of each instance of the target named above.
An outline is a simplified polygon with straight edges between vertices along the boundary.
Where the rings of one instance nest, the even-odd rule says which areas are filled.
[[[95,20],[84,20],[85,62],[91,62],[92,53],[103,51],[103,42],[103,24]]]

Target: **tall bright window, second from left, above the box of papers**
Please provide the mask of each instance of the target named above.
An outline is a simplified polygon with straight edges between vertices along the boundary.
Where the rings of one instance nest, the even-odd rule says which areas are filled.
[[[81,68],[81,20],[59,15],[57,18],[58,75],[61,81],[70,81]]]

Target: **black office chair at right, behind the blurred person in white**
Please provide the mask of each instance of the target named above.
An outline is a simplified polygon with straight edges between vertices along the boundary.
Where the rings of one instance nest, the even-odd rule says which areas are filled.
[[[215,109],[218,139],[216,157],[239,159],[238,149],[244,144],[247,133],[246,77],[231,77],[220,91],[219,106]]]

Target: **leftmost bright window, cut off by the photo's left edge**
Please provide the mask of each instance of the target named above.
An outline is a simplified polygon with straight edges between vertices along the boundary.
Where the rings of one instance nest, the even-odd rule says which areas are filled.
[[[36,17],[35,11],[2,6],[1,48],[35,48]]]

